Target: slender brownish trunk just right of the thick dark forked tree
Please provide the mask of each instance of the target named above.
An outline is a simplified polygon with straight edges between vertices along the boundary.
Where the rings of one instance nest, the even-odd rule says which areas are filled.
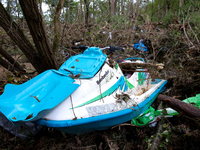
[[[60,42],[60,14],[64,5],[64,0],[59,0],[54,15],[54,39],[53,39],[53,52],[58,52]]]

